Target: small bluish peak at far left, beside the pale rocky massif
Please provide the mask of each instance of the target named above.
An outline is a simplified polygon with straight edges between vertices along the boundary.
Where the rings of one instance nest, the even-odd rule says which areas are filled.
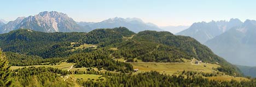
[[[16,26],[24,19],[25,17],[18,17],[16,18],[16,20],[14,21],[10,21],[7,24],[5,24],[4,26],[2,26],[0,28],[0,33],[8,33],[11,30],[15,30]]]

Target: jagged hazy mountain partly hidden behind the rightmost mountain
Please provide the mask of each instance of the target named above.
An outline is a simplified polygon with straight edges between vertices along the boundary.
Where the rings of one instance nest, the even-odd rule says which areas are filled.
[[[237,18],[232,18],[230,21],[211,21],[211,22],[197,22],[192,24],[188,29],[177,33],[177,35],[191,36],[201,43],[213,39],[232,27],[240,26],[242,22]]]

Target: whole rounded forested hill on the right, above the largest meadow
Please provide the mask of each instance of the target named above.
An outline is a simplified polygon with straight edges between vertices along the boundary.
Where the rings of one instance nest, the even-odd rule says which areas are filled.
[[[117,46],[118,51],[127,58],[138,58],[143,61],[181,62],[181,58],[196,58],[206,63],[219,64],[218,70],[232,75],[241,71],[228,61],[214,54],[210,48],[201,45],[189,36],[173,35],[170,32],[155,32],[146,30],[139,32],[131,40],[126,40]],[[128,52],[128,53],[127,53]],[[137,55],[137,56],[136,56]]]

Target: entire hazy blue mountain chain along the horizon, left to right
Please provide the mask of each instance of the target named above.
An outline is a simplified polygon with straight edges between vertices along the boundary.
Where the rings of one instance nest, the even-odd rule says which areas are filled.
[[[7,24],[0,22],[0,33],[8,33],[11,30],[28,28],[39,32],[90,32],[97,28],[127,27],[138,33],[143,30],[162,31],[163,29],[184,29],[188,26],[158,27],[153,23],[143,22],[139,18],[114,17],[101,22],[75,22],[67,14],[57,11],[44,11],[34,16],[18,17]],[[221,57],[231,63],[239,65],[253,65],[254,60],[254,21],[247,20],[245,23],[237,18],[230,21],[197,22],[188,29],[177,35],[191,36],[200,43],[205,43]],[[233,29],[239,27],[239,29]],[[162,29],[161,29],[162,28]],[[231,38],[231,39],[230,39]],[[223,49],[225,48],[225,49]],[[235,53],[235,55],[233,54]],[[248,55],[248,56],[247,56]],[[245,58],[246,59],[243,59]],[[249,60],[247,60],[249,59]],[[241,61],[243,60],[244,63]]]

